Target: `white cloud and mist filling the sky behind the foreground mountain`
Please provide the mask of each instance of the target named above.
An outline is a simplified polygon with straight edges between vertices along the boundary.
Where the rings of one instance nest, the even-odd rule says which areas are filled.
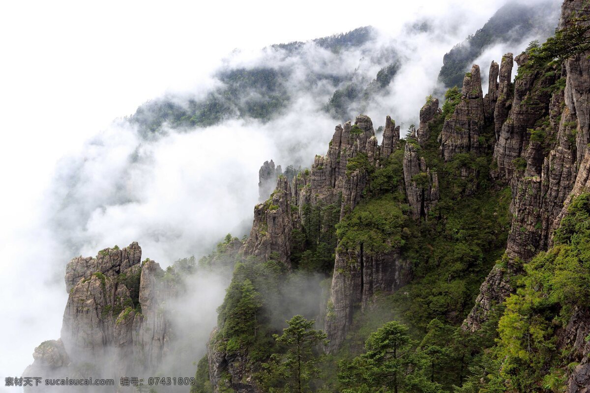
[[[0,296],[7,318],[0,335],[7,344],[0,376],[20,375],[34,346],[59,336],[70,257],[137,240],[145,256],[165,266],[247,227],[260,164],[274,158],[309,165],[333,133],[335,121],[317,111],[332,87],[307,91],[298,85],[306,70],[343,74],[362,54],[354,49],[337,58],[310,48],[306,62],[293,66],[289,88],[297,94],[289,113],[267,124],[230,121],[145,142],[113,118],[165,93],[204,94],[214,85],[209,75],[234,48],[242,51],[232,64],[254,64],[266,45],[374,25],[383,32],[375,48],[395,36],[410,63],[369,115],[376,126],[386,114],[409,122],[432,89],[442,54],[500,5],[4,2]],[[396,35],[418,18],[432,21],[438,35],[411,42]],[[378,67],[368,64],[374,74]]]

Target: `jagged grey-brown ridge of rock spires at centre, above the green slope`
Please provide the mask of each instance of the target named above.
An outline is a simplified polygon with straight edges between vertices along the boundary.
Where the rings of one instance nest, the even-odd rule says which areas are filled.
[[[383,147],[383,157],[391,154],[399,136],[399,127],[394,127],[389,117],[386,121],[388,147]],[[300,226],[303,207],[336,203],[340,204],[340,217],[350,212],[365,188],[366,168],[347,169],[348,161],[358,158],[363,165],[365,160],[374,165],[378,156],[375,130],[368,116],[359,115],[354,125],[347,122],[344,127],[337,126],[326,156],[316,156],[311,171],[299,173],[292,184],[286,176],[278,176],[270,198],[255,207],[250,237],[242,247],[244,257],[276,259],[291,269],[291,233]]]

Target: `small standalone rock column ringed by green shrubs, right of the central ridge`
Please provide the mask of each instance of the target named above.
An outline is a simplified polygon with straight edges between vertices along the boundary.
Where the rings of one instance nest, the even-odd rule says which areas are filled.
[[[406,197],[412,217],[425,218],[438,201],[438,176],[431,173],[424,157],[418,157],[418,150],[411,139],[405,144],[404,183]]]

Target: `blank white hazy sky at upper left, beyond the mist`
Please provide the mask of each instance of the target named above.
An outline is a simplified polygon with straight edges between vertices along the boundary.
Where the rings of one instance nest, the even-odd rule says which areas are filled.
[[[45,262],[57,245],[39,217],[61,157],[146,100],[198,88],[234,48],[304,41],[363,25],[395,32],[422,12],[457,9],[470,12],[469,22],[481,27],[502,3],[2,2],[0,280],[14,285],[0,286],[0,333],[8,341],[0,348],[0,378],[20,375],[34,346],[59,336],[65,290],[48,296],[38,279],[54,273]],[[25,260],[36,263],[24,266]],[[47,318],[42,330],[28,322],[39,315]]]

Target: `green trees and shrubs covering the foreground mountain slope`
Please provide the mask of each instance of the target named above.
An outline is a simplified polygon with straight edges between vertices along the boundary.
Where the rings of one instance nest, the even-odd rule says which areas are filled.
[[[534,57],[541,48],[533,42],[527,51]],[[530,141],[546,152],[555,141],[555,114],[548,115],[546,108],[551,94],[563,88],[563,78],[550,62],[523,65],[519,78],[527,75],[533,75],[533,88],[519,105],[529,107],[535,115],[536,123],[527,133]],[[427,97],[427,103],[431,100]],[[287,213],[301,213],[291,232],[289,266],[276,262],[272,255],[266,262],[250,258],[236,263],[218,310],[219,330],[212,345],[225,353],[228,362],[243,362],[244,375],[253,377],[261,391],[564,391],[567,373],[580,359],[571,344],[560,340],[572,315],[590,307],[590,194],[572,201],[555,232],[552,249],[524,264],[522,275],[511,273],[510,285],[516,286],[516,293],[503,304],[492,303],[477,332],[461,328],[492,267],[494,272],[506,274],[523,266],[522,261],[504,254],[512,196],[509,186],[490,179],[493,124],[488,124],[477,140],[487,155],[461,153],[448,161],[440,157],[437,138],[445,118],[461,100],[460,88],[447,91],[442,114],[430,123],[429,140],[422,146],[406,137],[379,166],[371,165],[363,153],[350,158],[346,175],[360,171],[367,184],[360,202],[352,211],[343,212],[342,219],[342,196],[330,204],[288,206]],[[576,126],[566,124],[568,130]],[[362,133],[356,126],[351,131]],[[570,134],[575,137],[575,131]],[[402,159],[407,143],[424,157],[430,173],[436,173],[439,180],[438,202],[420,220],[410,219],[405,204]],[[512,164],[519,176],[526,169],[522,157]],[[431,179],[420,171],[411,180],[427,189]],[[320,192],[315,195],[317,200],[323,197]],[[272,210],[273,204],[268,202],[266,207]],[[540,230],[542,223],[530,225]],[[527,232],[527,227],[529,224],[520,230]],[[233,242],[228,235],[219,243],[218,252],[233,249]],[[354,299],[357,303],[348,316],[343,344],[335,353],[320,355],[326,335],[319,330],[321,325],[307,318],[322,321],[325,317],[333,322],[340,313],[341,305],[326,295],[336,252],[348,253],[351,258],[359,253],[377,256],[395,252],[396,266],[411,267],[398,272],[407,274],[409,283],[393,292],[376,292],[368,302]],[[346,272],[346,267],[342,270]],[[328,278],[320,284],[322,295],[316,296],[325,308],[295,311],[299,306],[293,302],[306,302],[306,289],[310,288],[301,283],[314,273]],[[361,288],[371,285],[369,281],[363,280]],[[288,293],[297,293],[296,299]],[[211,391],[203,360],[197,377],[192,391]],[[229,378],[222,374],[220,386],[229,387]]]

